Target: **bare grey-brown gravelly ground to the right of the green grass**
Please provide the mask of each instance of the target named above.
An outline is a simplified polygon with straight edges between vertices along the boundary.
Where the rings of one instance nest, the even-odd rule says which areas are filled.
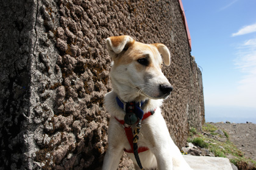
[[[246,157],[256,161],[256,124],[254,123],[211,123],[226,131],[238,149]]]

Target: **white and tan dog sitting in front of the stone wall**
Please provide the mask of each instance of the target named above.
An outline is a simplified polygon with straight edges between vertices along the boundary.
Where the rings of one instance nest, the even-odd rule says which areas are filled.
[[[104,98],[105,109],[111,116],[108,149],[102,169],[117,169],[123,152],[134,151],[135,146],[127,138],[125,128],[133,131],[141,126],[137,134],[138,152],[142,151],[138,154],[140,162],[133,152],[127,153],[135,169],[190,170],[179,148],[172,141],[160,110],[163,100],[172,91],[171,84],[162,73],[162,64],[170,64],[168,48],[160,43],[143,44],[123,35],[107,38],[107,50],[112,58],[110,80],[113,89]],[[143,118],[145,113],[151,114],[147,114],[144,119],[132,115],[128,117],[128,121],[125,120],[126,109],[132,108],[126,104],[132,104],[131,102],[137,105],[137,109],[143,110]],[[134,108],[132,112],[135,112]],[[134,118],[136,123],[132,124]]]

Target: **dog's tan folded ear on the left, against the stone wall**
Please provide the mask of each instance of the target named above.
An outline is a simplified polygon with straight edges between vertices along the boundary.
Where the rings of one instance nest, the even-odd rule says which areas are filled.
[[[127,50],[135,40],[128,35],[121,36],[110,36],[107,38],[107,50],[108,54],[115,58],[118,53],[123,52],[123,50]]]

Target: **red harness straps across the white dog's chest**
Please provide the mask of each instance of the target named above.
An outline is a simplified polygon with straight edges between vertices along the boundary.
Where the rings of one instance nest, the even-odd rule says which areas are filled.
[[[156,110],[156,109],[155,109],[155,110]],[[145,113],[145,114],[143,115],[142,120],[144,120],[144,119],[148,118],[149,116],[151,116],[152,114],[154,114],[155,110],[154,110],[153,112],[147,112],[147,113]],[[116,118],[116,117],[115,117],[115,119],[116,119],[117,121],[119,121],[119,123],[121,123],[121,124],[124,126],[124,120],[118,120],[118,118]],[[141,120],[141,121],[142,121],[142,120]],[[124,148],[124,151],[125,151],[125,152],[128,152],[128,153],[133,153],[133,134],[132,134],[132,127],[130,127],[130,126],[128,126],[128,127],[124,126],[124,131],[126,131],[126,137],[127,137],[128,141],[129,141],[129,143],[130,143],[130,148],[131,148],[130,150],[127,150],[126,148]],[[140,147],[140,148],[138,148],[138,153],[144,152],[144,151],[148,151],[148,150],[149,150],[149,148],[147,148],[147,147]]]

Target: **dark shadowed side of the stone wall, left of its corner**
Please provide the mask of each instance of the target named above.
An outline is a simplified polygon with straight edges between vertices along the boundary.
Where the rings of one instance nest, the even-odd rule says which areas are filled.
[[[34,1],[0,5],[0,169],[24,169],[29,156],[31,59],[36,39]],[[31,130],[29,130],[31,129]]]

